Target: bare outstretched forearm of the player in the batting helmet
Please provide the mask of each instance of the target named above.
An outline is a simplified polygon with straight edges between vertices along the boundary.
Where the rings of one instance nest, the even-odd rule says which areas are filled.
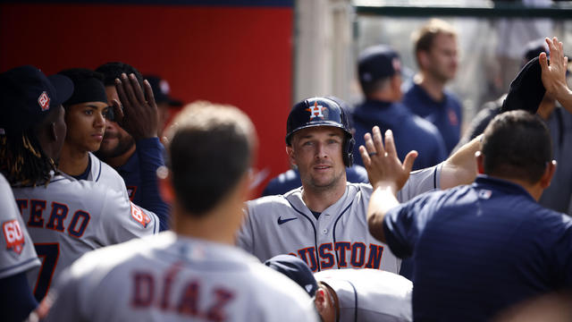
[[[469,184],[476,178],[475,153],[481,149],[482,134],[459,148],[442,165],[440,189]]]

